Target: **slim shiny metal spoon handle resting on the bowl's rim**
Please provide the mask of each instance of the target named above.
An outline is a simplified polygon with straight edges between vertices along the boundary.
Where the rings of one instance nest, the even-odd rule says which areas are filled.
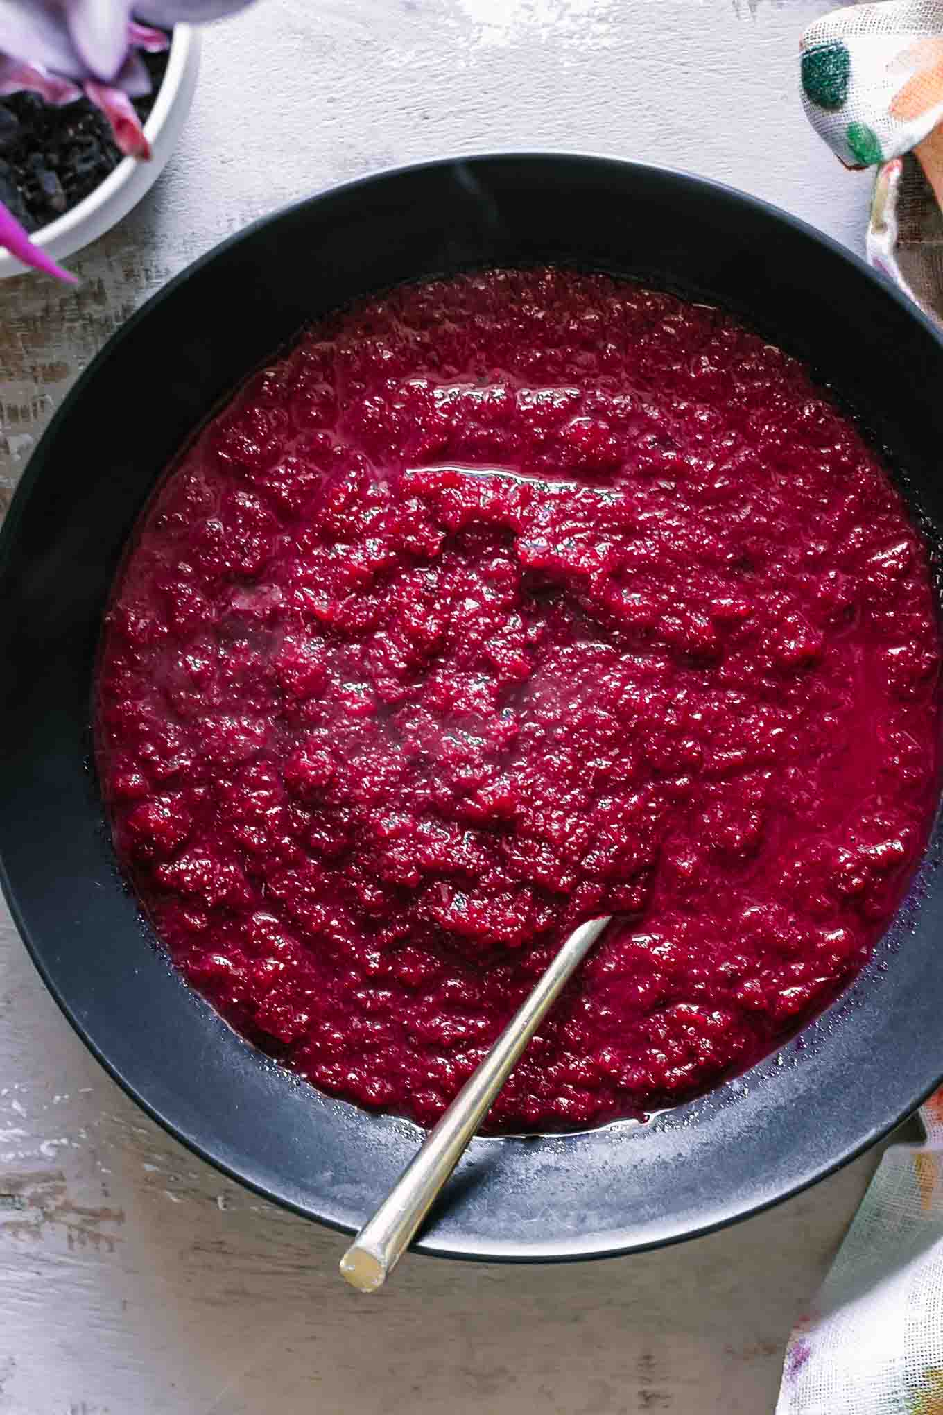
[[[609,917],[591,918],[570,934],[534,990],[430,1131],[373,1217],[363,1224],[341,1258],[341,1272],[351,1286],[375,1292],[389,1278],[520,1053],[608,923]]]

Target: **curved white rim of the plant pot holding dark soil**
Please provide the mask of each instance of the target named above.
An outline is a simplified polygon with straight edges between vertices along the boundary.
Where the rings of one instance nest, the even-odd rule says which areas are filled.
[[[188,24],[178,24],[170,44],[164,81],[144,123],[151,144],[150,161],[122,158],[115,171],[109,173],[83,201],[33,235],[35,245],[54,260],[62,260],[89,242],[98,241],[137,205],[148,187],[154,185],[174,150],[189,110],[198,68],[199,34]],[[8,250],[0,250],[0,279],[24,275],[30,269],[16,260]]]

